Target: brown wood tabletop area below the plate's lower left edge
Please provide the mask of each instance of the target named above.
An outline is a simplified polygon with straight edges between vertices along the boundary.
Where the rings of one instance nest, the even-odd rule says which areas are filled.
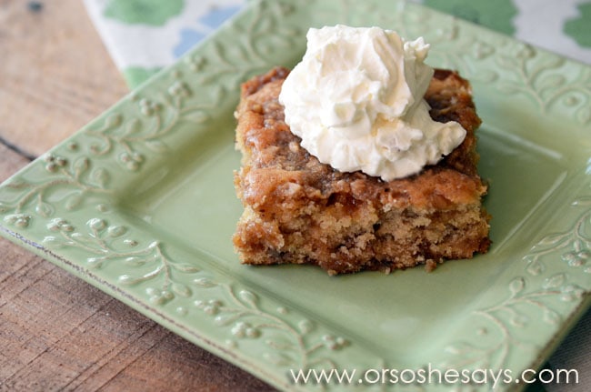
[[[271,389],[42,258],[0,249],[0,390]]]

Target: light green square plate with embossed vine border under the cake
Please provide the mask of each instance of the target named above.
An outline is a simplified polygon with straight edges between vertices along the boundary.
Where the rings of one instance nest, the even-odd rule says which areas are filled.
[[[387,276],[239,264],[239,85],[295,65],[307,28],[337,23],[423,35],[431,65],[471,80],[490,181],[488,254]],[[589,305],[590,91],[589,66],[419,5],[255,1],[7,180],[0,234],[282,389],[303,388],[290,369],[311,367],[517,378]]]

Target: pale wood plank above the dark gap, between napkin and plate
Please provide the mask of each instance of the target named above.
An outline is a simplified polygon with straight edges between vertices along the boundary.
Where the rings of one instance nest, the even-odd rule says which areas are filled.
[[[79,0],[0,0],[0,138],[39,156],[126,94]]]

